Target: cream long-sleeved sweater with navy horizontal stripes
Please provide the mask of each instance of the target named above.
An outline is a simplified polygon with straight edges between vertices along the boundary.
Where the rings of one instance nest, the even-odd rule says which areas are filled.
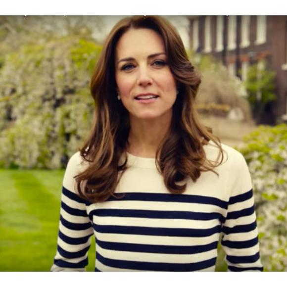
[[[229,271],[263,271],[248,167],[238,151],[222,147],[219,176],[203,172],[177,195],[167,191],[154,159],[128,154],[129,168],[116,189],[124,197],[96,204],[76,194],[73,177],[85,164],[74,154],[63,180],[51,271],[86,271],[95,236],[96,272],[213,272],[221,234]],[[218,149],[204,148],[215,160]]]

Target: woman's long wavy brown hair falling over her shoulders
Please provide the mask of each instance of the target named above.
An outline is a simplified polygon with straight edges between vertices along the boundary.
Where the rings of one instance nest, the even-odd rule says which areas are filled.
[[[118,181],[128,168],[125,149],[130,132],[129,112],[117,99],[115,48],[125,32],[140,28],[152,29],[162,37],[168,64],[179,88],[173,106],[172,125],[156,152],[156,166],[163,175],[166,188],[171,193],[183,193],[186,184],[180,182],[187,178],[195,182],[201,172],[215,172],[214,168],[223,161],[220,140],[199,121],[194,101],[201,76],[192,66],[177,30],[160,16],[127,17],[119,21],[107,37],[91,81],[95,122],[80,149],[81,156],[89,164],[75,178],[79,195],[92,202],[116,197]],[[220,151],[213,162],[207,160],[203,149],[209,141],[217,144]]]

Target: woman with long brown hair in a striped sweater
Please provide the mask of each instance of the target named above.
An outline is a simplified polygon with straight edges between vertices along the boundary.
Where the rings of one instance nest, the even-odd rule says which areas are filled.
[[[92,78],[96,120],[70,159],[51,271],[262,271],[243,156],[200,124],[200,76],[159,16],[121,20]]]

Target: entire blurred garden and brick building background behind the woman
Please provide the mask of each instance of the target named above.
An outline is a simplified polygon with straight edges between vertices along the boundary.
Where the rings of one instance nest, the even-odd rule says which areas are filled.
[[[265,271],[286,272],[287,16],[163,16],[202,73],[201,120],[248,163]],[[91,75],[123,17],[0,15],[0,271],[53,263],[65,167],[93,122]],[[89,259],[94,271],[94,242]]]

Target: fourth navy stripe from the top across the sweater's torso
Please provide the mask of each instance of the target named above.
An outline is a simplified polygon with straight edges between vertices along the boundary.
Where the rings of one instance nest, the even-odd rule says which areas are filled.
[[[199,246],[166,246],[166,245],[148,245],[135,243],[115,243],[96,240],[96,244],[102,249],[128,252],[143,252],[157,254],[197,254],[217,249],[218,242],[212,242]]]

